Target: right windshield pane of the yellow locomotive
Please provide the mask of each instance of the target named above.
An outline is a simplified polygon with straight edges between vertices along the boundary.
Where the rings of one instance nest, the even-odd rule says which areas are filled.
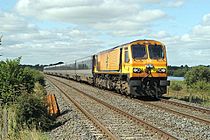
[[[151,59],[163,59],[164,53],[161,45],[149,45],[149,56]]]

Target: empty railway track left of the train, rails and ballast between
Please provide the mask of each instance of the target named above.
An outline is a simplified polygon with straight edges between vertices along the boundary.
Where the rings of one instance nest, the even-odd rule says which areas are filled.
[[[80,110],[84,112],[88,118],[93,118],[91,120],[96,123],[101,131],[103,131],[103,133],[110,139],[177,139],[158,127],[155,127],[144,120],[135,117],[134,115],[131,115],[115,106],[97,99],[78,88],[70,86],[52,77],[47,78],[63,94],[65,94],[65,96],[71,100],[71,102],[74,102],[74,104],[80,108]],[[80,97],[78,94],[71,94],[70,96],[68,94],[69,92],[66,90],[67,87],[79,93]],[[74,97],[72,98],[72,96]],[[92,108],[92,110],[90,108]],[[88,111],[89,109],[90,111]],[[100,116],[99,112],[103,115]],[[93,117],[91,114],[100,117]]]

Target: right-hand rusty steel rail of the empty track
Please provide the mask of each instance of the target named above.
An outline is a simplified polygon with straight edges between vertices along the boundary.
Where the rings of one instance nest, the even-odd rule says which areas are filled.
[[[177,140],[178,139],[175,136],[172,136],[171,134],[159,129],[158,127],[155,127],[155,126],[145,122],[144,120],[141,120],[141,119],[139,119],[139,118],[127,113],[127,112],[122,111],[121,109],[119,109],[117,107],[114,107],[114,106],[112,106],[112,105],[110,105],[110,104],[108,104],[108,103],[106,103],[106,102],[104,102],[100,99],[97,99],[97,98],[95,98],[95,97],[93,97],[93,96],[91,96],[91,95],[89,95],[89,94],[87,94],[87,93],[69,85],[69,84],[66,84],[65,82],[62,82],[62,81],[60,81],[58,79],[55,79],[53,77],[51,77],[51,78],[60,82],[60,83],[62,83],[62,84],[64,84],[64,85],[66,85],[66,86],[68,86],[68,87],[70,87],[70,88],[72,88],[72,89],[74,89],[75,91],[78,91],[79,93],[82,93],[83,95],[95,100],[96,102],[98,102],[100,104],[103,104],[104,106],[110,108],[111,110],[113,110],[115,112],[118,112],[119,114],[129,118],[130,120],[133,120],[134,122],[140,124],[141,126],[145,127],[146,129],[150,130],[151,132],[159,134],[160,139],[164,139],[164,140]]]

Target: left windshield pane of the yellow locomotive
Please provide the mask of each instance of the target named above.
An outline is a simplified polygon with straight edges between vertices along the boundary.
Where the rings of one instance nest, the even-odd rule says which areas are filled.
[[[132,56],[133,59],[146,59],[147,53],[146,53],[146,47],[144,45],[135,44],[132,45]]]

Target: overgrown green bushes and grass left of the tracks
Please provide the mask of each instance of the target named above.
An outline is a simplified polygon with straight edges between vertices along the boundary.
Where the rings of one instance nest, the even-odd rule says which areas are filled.
[[[25,132],[30,135],[29,130],[35,134],[34,130],[48,130],[52,126],[43,86],[44,76],[37,70],[21,67],[20,58],[0,62],[0,99],[11,118],[9,139],[18,139]]]

